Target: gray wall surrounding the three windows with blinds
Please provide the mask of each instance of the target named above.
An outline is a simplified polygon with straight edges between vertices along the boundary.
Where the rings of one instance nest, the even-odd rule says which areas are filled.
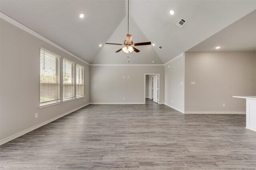
[[[89,103],[88,65],[0,19],[0,140]],[[39,108],[40,47],[84,66],[85,98]],[[60,73],[62,64],[60,64]],[[62,80],[62,74],[60,74]],[[62,86],[60,86],[62,96]],[[85,99],[85,101],[84,101]],[[38,118],[34,118],[38,113]]]

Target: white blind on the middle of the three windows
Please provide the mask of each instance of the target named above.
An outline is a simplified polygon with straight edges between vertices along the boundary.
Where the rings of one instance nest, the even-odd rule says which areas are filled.
[[[74,63],[63,59],[63,100],[74,98]]]

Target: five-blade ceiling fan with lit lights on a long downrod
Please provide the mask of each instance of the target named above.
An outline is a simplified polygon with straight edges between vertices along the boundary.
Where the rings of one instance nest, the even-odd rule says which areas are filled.
[[[140,50],[136,49],[134,46],[151,45],[151,42],[133,43],[132,41],[132,35],[129,34],[129,0],[128,0],[128,34],[126,35],[126,40],[124,40],[123,44],[117,44],[117,43],[106,43],[106,44],[124,46],[123,48],[116,51],[116,53],[118,53],[121,50],[123,50],[125,53],[132,53],[132,51],[135,51],[136,53],[138,53],[140,52]]]

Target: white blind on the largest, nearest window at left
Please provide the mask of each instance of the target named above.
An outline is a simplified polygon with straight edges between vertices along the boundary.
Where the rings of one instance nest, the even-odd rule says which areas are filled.
[[[60,100],[60,58],[40,50],[40,105]]]

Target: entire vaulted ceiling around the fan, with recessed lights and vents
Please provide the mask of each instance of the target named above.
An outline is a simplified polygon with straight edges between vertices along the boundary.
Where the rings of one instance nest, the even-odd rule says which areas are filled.
[[[256,10],[256,1],[131,0],[133,41],[156,46],[140,46],[139,53],[128,55],[115,53],[118,45],[104,45],[126,39],[126,8],[125,0],[0,1],[1,12],[93,64],[166,63]],[[187,21],[182,28],[176,25],[181,18]]]

